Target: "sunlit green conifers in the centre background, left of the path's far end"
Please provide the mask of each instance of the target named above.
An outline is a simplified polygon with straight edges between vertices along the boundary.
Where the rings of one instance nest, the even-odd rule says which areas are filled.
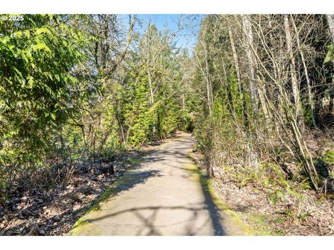
[[[119,120],[127,147],[166,138],[177,129],[191,129],[191,104],[184,95],[181,63],[189,58],[173,49],[169,35],[148,26],[138,38],[138,51],[132,51],[126,60]]]

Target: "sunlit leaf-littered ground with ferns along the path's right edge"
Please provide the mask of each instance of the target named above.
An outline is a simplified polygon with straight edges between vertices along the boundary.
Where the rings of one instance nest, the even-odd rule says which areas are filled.
[[[193,157],[205,169],[200,153]],[[298,190],[301,199],[286,192],[285,201],[273,203],[271,190],[258,183],[240,188],[223,169],[215,169],[214,189],[255,235],[334,235],[333,196]]]

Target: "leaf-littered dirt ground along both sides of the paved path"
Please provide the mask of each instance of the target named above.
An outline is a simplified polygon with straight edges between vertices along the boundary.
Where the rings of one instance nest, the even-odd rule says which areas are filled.
[[[78,163],[66,184],[27,192],[10,188],[8,199],[0,206],[0,235],[66,235],[106,188],[161,142],[116,158],[113,175],[96,171],[100,165]],[[200,153],[193,153],[193,158],[205,168]],[[214,189],[255,235],[334,235],[333,197],[299,190],[303,199],[287,195],[284,202],[273,203],[269,190],[257,183],[239,188],[239,183],[222,169],[215,171]]]

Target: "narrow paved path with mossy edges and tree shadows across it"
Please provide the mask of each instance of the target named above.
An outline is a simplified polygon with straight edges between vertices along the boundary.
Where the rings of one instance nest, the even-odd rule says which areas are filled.
[[[154,147],[69,235],[244,235],[201,181],[189,156],[193,143],[184,133]]]

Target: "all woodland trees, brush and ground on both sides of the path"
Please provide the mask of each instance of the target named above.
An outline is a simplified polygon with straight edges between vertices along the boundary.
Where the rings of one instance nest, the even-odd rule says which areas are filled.
[[[144,21],[0,21],[0,235],[66,233],[176,131],[255,234],[333,235],[334,16],[206,15],[192,51]]]

